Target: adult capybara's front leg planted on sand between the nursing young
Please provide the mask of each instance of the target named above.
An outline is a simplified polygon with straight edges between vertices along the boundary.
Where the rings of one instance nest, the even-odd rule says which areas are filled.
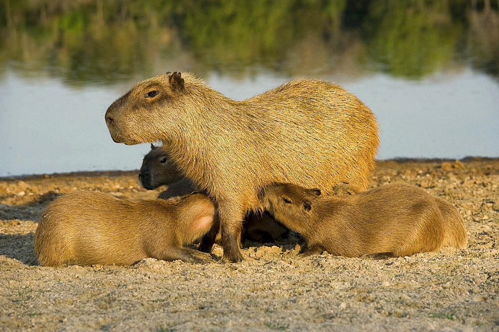
[[[222,246],[224,256],[222,263],[237,263],[243,260],[239,241],[241,239],[241,228],[246,211],[234,211],[227,205],[219,205],[220,229],[222,232]]]

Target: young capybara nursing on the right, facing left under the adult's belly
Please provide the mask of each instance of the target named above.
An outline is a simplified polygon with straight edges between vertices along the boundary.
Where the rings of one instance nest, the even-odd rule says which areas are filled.
[[[322,196],[318,189],[276,183],[266,186],[259,198],[274,218],[307,240],[305,254],[408,256],[442,246],[466,246],[463,219],[445,220],[448,213],[441,212],[440,201],[409,184]],[[446,205],[446,209],[451,207],[453,216],[460,217],[452,204]]]

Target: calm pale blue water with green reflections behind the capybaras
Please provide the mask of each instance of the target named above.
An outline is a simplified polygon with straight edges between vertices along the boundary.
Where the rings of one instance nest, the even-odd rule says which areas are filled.
[[[138,168],[149,145],[115,144],[105,110],[175,70],[234,99],[339,83],[376,114],[378,159],[499,157],[496,1],[166,2],[7,1],[0,176]]]

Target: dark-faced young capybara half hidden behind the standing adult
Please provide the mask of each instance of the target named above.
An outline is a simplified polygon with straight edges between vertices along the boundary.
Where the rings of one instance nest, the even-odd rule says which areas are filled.
[[[183,178],[175,163],[169,158],[168,153],[153,144],[151,144],[151,151],[142,160],[139,181],[142,187],[149,190],[167,185],[168,189],[162,191],[158,196],[158,198],[163,199],[184,196],[199,190],[189,178]],[[286,238],[288,234],[289,230],[267,213],[250,212],[245,218],[242,240],[272,243]],[[217,243],[220,243],[219,237],[218,234]]]

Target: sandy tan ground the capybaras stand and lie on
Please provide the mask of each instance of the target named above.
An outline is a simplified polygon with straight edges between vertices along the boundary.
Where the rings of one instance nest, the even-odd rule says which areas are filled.
[[[297,258],[296,243],[245,243],[245,261],[146,259],[134,266],[37,265],[33,234],[60,193],[153,197],[136,172],[0,178],[0,330],[499,331],[499,159],[379,162],[371,185],[408,182],[465,218],[464,250],[375,259]]]

